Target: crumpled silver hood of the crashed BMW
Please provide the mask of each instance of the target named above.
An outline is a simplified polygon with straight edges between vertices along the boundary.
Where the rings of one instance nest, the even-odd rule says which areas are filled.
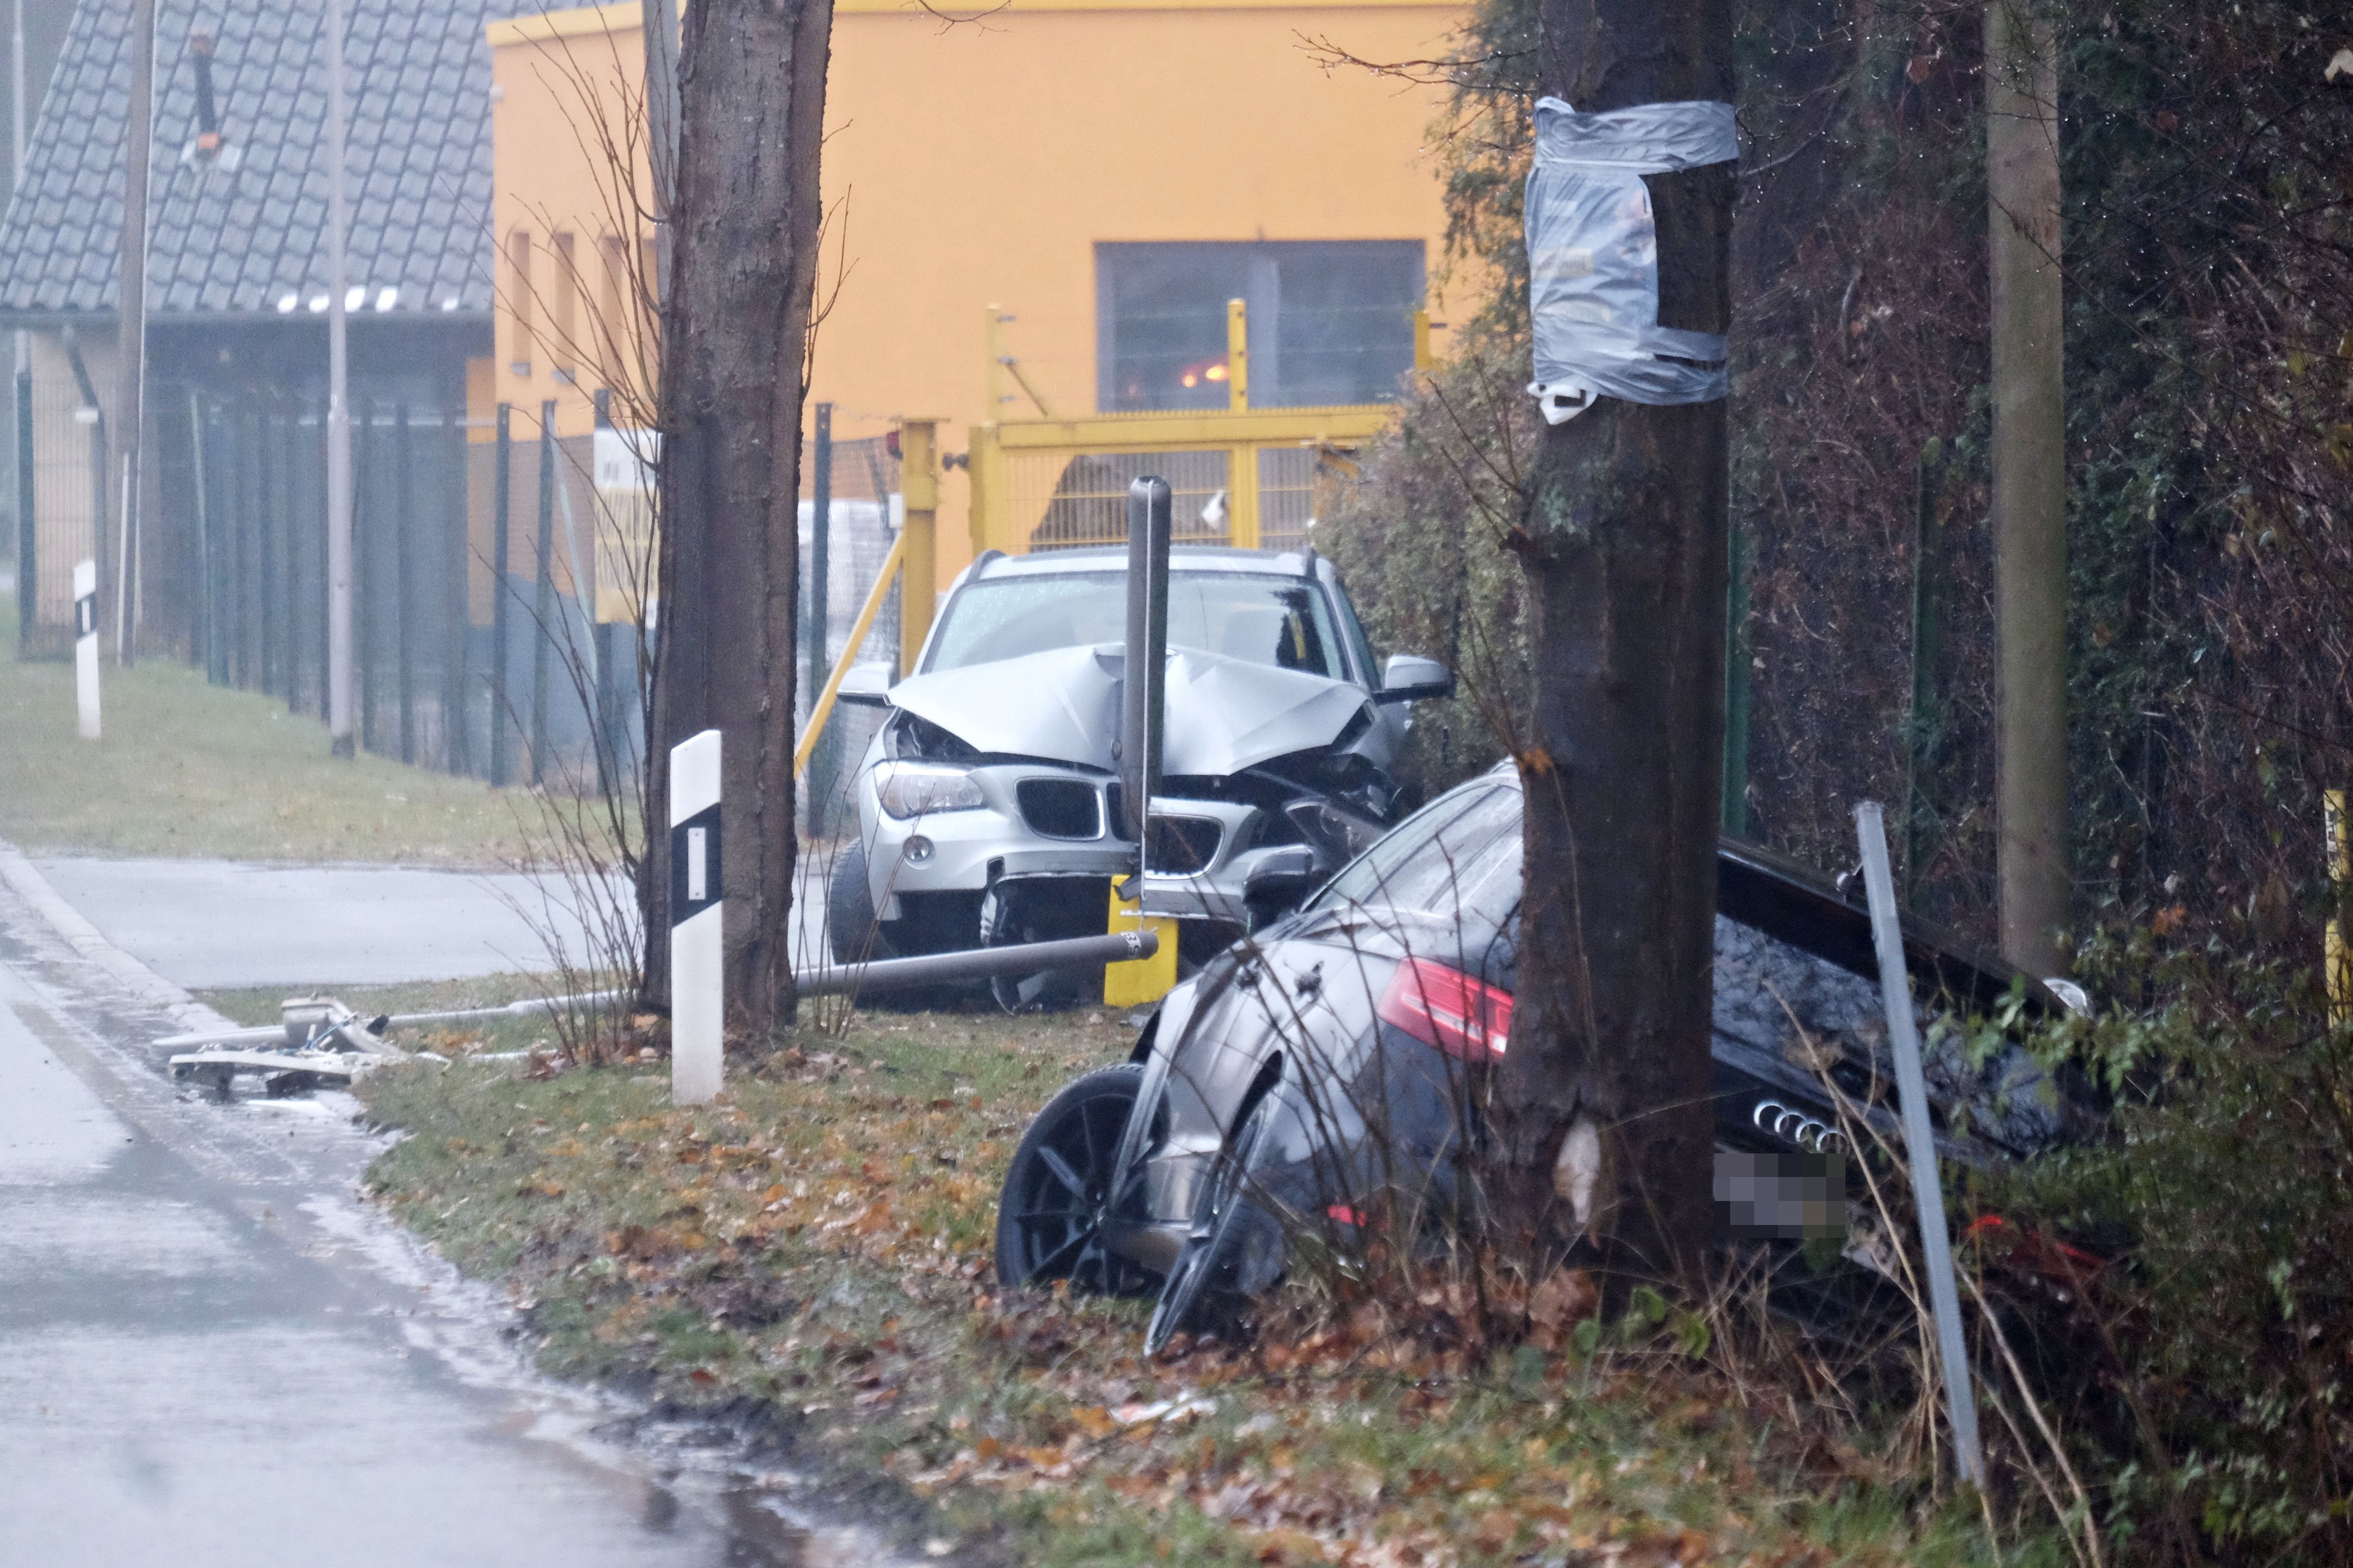
[[[1113,769],[1125,668],[1115,642],[1049,649],[911,675],[889,701],[981,752]],[[1362,708],[1365,689],[1351,682],[1169,649],[1160,771],[1214,778],[1332,745]]]

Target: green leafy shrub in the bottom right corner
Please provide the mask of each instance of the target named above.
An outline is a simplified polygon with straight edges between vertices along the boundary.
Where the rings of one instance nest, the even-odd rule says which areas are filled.
[[[2129,1004],[2045,1046],[2115,1093],[2113,1135],[2040,1161],[2021,1197],[2122,1241],[2087,1302],[2104,1366],[2078,1410],[2118,1533],[2148,1556],[2195,1530],[2226,1561],[2348,1561],[2353,1027],[2318,1023],[2311,964],[2231,924],[2238,943],[2087,943],[2082,969]]]

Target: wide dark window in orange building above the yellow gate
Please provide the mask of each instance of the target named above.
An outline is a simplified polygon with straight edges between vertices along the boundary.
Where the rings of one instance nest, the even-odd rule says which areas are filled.
[[[1419,240],[1096,244],[1096,407],[1224,409],[1226,301],[1249,407],[1386,402],[1414,367]]]

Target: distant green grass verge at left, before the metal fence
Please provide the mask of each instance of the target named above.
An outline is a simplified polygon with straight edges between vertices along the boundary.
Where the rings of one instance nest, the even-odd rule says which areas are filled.
[[[21,849],[492,867],[529,856],[520,790],[360,755],[278,698],[174,658],[101,670],[104,738],[73,719],[73,665],[19,661],[0,604],[0,839]],[[522,818],[518,818],[518,809]]]

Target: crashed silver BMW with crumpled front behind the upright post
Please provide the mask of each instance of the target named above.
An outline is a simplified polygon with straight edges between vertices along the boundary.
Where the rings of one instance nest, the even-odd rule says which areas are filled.
[[[981,555],[915,672],[861,665],[840,701],[887,708],[859,764],[856,842],[833,867],[835,959],[1101,933],[1134,870],[1118,783],[1127,552]],[[1162,785],[1144,912],[1198,964],[1346,865],[1402,816],[1405,705],[1452,691],[1428,658],[1374,665],[1313,550],[1169,552]],[[1000,983],[1073,1001],[1085,976]]]

